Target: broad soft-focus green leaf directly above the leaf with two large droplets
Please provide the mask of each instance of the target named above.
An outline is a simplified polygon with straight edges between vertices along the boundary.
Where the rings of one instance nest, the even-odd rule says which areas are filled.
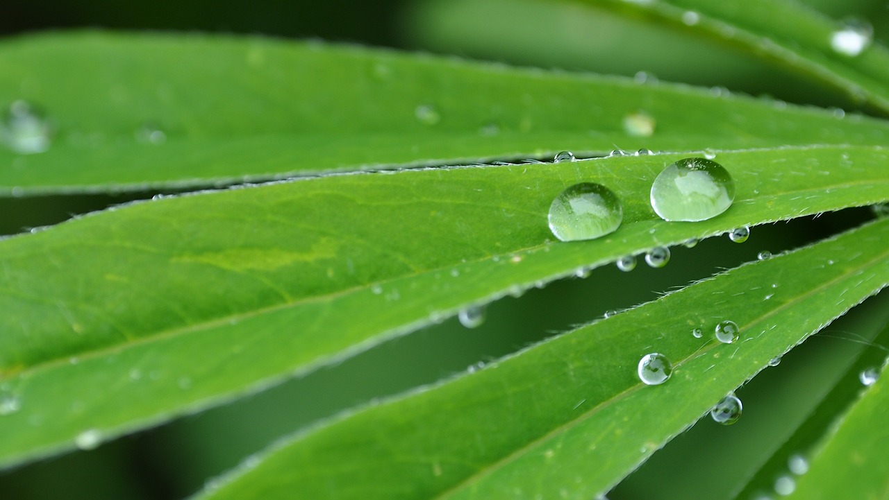
[[[6,195],[212,187],[562,149],[889,140],[882,121],[682,85],[262,38],[85,32],[7,40],[0,103],[14,99],[42,107],[57,133],[42,154],[0,148],[0,164],[10,167],[0,169]],[[639,111],[653,119],[652,133],[623,124]],[[163,144],[138,139],[147,125],[163,131]]]

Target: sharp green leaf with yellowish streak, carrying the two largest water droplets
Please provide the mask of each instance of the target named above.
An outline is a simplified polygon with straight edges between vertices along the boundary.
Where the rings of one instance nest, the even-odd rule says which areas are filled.
[[[0,464],[228,401],[627,254],[889,193],[882,147],[726,151],[733,207],[664,222],[649,187],[684,156],[303,179],[139,202],[0,242],[0,373],[20,401]],[[623,225],[552,244],[549,204],[581,181],[613,189]]]

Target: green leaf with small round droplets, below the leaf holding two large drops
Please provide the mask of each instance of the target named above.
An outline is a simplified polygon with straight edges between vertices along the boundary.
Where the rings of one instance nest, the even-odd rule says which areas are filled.
[[[199,497],[604,494],[775,355],[883,288],[887,235],[889,219],[879,220],[334,419],[254,457]],[[726,319],[741,329],[731,345],[691,334]],[[653,352],[674,363],[663,385],[643,385],[636,375],[639,359]]]

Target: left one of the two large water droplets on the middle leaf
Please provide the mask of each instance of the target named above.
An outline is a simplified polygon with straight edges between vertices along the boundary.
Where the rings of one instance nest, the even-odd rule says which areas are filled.
[[[569,187],[549,206],[549,229],[563,242],[613,233],[621,220],[621,201],[601,184],[586,182]]]

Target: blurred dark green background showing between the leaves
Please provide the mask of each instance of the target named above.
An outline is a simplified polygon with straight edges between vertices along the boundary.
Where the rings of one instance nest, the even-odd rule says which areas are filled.
[[[837,19],[869,20],[877,39],[889,32],[885,1],[810,0]],[[589,2],[595,4],[595,2]],[[321,38],[421,50],[508,64],[634,76],[716,86],[789,102],[853,108],[844,96],[717,44],[687,28],[622,19],[595,6],[535,0],[396,0],[365,3],[168,0],[121,4],[108,0],[39,0],[4,5],[0,35],[65,28],[210,31],[286,38]],[[885,38],[884,38],[885,40]],[[718,119],[718,117],[714,117]],[[579,145],[579,148],[581,146]],[[706,145],[701,145],[706,147]],[[52,225],[155,192],[0,200],[2,234]],[[292,380],[265,393],[169,425],[0,472],[0,498],[180,498],[286,433],[364,401],[385,397],[533,344],[542,338],[658,297],[721,269],[755,259],[760,250],[796,248],[871,218],[844,210],[821,218],[756,227],[748,242],[713,238],[673,250],[669,266],[613,266],[507,298],[488,308],[478,329],[455,320],[380,345],[368,353]],[[885,296],[885,294],[884,294]],[[865,349],[886,320],[886,298],[873,298],[741,388],[744,416],[722,427],[702,420],[655,454],[609,496],[719,498],[786,438],[821,393]],[[335,334],[335,332],[332,332]],[[869,349],[874,349],[870,347]],[[726,467],[725,460],[731,467]],[[696,478],[691,481],[690,478]],[[704,478],[702,480],[701,478]],[[694,483],[695,489],[687,486]]]

